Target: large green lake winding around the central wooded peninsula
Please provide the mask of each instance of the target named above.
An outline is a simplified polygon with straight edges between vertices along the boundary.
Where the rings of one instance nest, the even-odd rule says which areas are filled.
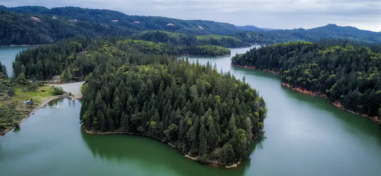
[[[232,55],[248,48],[232,49]],[[91,135],[79,124],[81,102],[59,99],[0,136],[4,176],[376,176],[381,130],[374,122],[332,106],[328,99],[280,84],[278,75],[230,65],[230,57],[204,58],[256,88],[267,103],[266,139],[253,144],[238,168],[203,165],[155,139]]]

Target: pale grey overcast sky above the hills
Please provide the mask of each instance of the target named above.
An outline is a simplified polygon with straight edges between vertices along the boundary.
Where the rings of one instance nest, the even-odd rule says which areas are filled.
[[[0,0],[0,4],[103,8],[276,29],[309,29],[333,23],[381,31],[381,0]]]

